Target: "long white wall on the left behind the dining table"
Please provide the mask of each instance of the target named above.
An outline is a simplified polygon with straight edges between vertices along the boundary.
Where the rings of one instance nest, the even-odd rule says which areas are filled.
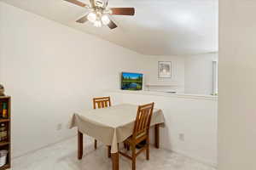
[[[73,111],[119,88],[120,71],[143,72],[143,55],[0,3],[0,82],[12,96],[13,156],[72,136]],[[58,123],[63,124],[56,131]]]

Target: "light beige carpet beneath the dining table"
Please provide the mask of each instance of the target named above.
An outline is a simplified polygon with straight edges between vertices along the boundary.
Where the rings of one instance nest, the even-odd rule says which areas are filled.
[[[68,139],[59,144],[16,158],[12,170],[111,170],[107,148],[100,145],[94,150],[92,144],[84,149],[82,161],[77,159],[77,140]],[[131,161],[120,156],[120,170],[131,170]],[[150,160],[145,155],[137,157],[137,170],[216,170],[186,156],[168,150],[150,149]]]

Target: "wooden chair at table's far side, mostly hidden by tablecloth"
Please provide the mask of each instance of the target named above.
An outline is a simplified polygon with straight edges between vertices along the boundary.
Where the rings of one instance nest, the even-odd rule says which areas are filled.
[[[94,98],[93,99],[93,109],[102,109],[111,106],[110,97]],[[94,148],[97,149],[97,140],[94,140]],[[111,147],[108,146],[108,157],[111,156]]]

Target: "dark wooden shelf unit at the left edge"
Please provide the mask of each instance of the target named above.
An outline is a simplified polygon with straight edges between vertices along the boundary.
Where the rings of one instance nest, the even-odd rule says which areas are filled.
[[[3,118],[3,103],[7,103],[8,117]],[[9,96],[0,96],[0,124],[5,123],[7,126],[8,138],[0,141],[0,150],[8,150],[7,162],[0,170],[9,169],[11,167],[11,98]]]

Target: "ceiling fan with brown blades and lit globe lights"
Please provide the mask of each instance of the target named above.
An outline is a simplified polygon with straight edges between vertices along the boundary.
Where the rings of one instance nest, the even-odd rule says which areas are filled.
[[[90,0],[90,5],[79,2],[78,0],[64,0],[69,3],[87,8],[88,14],[77,20],[78,23],[90,21],[93,26],[108,26],[110,29],[116,28],[116,24],[109,18],[110,15],[134,15],[135,8],[108,8],[108,0]]]

